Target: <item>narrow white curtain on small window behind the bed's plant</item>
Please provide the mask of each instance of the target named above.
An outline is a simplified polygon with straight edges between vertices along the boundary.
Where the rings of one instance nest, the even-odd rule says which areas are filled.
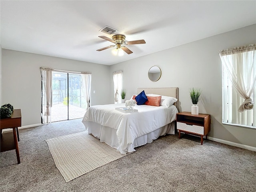
[[[123,72],[117,71],[113,73],[114,81],[114,102],[122,103],[121,90],[123,86]]]

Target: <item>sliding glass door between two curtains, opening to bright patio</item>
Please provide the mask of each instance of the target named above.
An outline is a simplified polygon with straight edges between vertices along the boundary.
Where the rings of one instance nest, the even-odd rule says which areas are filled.
[[[82,118],[86,102],[82,95],[81,74],[53,72],[52,122]]]

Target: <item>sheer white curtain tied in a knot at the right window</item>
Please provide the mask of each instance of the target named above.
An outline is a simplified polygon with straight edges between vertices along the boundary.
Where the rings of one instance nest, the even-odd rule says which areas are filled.
[[[232,86],[244,98],[238,111],[251,110],[254,106],[251,96],[256,86],[256,44],[221,50],[219,54]]]

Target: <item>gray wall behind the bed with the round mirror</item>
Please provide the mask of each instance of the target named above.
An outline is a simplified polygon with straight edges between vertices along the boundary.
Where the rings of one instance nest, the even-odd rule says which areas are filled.
[[[189,88],[200,87],[202,100],[198,103],[199,112],[210,114],[213,121],[208,136],[256,147],[256,129],[222,124],[222,63],[218,54],[222,49],[252,43],[256,43],[256,25],[112,65],[110,76],[114,71],[123,70],[126,99],[136,93],[136,88],[178,87],[180,111],[188,112],[192,106]],[[148,70],[154,65],[162,70],[157,82],[148,79]],[[113,90],[113,81],[110,88]],[[110,92],[112,103],[113,92]]]

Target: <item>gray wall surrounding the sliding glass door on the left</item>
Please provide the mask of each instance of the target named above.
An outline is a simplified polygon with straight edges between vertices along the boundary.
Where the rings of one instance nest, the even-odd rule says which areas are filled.
[[[3,49],[2,103],[21,109],[22,126],[41,123],[40,67],[92,72],[92,105],[108,104],[109,66]]]

